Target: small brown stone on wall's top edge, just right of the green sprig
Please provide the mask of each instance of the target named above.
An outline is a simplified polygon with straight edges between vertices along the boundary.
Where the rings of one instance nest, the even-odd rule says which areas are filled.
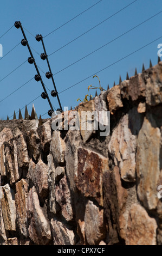
[[[115,86],[109,90],[107,94],[107,101],[111,114],[114,114],[116,110],[123,107],[123,103],[121,101],[120,86]]]

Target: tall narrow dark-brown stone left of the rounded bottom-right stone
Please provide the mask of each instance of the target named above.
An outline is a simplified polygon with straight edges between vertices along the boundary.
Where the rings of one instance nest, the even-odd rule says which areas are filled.
[[[109,244],[119,242],[119,237],[125,239],[127,228],[125,220],[126,202],[128,192],[122,187],[119,168],[103,174],[104,209],[108,224]],[[132,202],[133,203],[133,202]]]

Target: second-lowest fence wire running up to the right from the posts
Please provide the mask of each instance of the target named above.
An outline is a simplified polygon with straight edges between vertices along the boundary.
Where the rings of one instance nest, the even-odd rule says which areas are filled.
[[[139,23],[137,26],[135,26],[135,27],[133,27],[133,28],[129,29],[129,30],[128,30],[128,31],[126,31],[125,33],[123,33],[123,34],[121,34],[121,35],[117,36],[117,37],[116,37],[116,38],[114,38],[113,40],[111,40],[111,41],[107,42],[105,45],[102,45],[101,47],[99,47],[98,49],[94,50],[93,52],[90,52],[89,54],[87,54],[86,56],[82,57],[81,59],[76,60],[76,62],[73,62],[72,64],[70,64],[70,65],[66,66],[66,68],[63,68],[63,69],[61,69],[60,71],[56,72],[53,76],[55,76],[55,75],[59,74],[60,72],[62,72],[63,70],[65,70],[65,69],[69,68],[70,66],[72,66],[72,65],[76,64],[77,62],[80,62],[80,60],[87,58],[88,56],[90,56],[91,54],[95,53],[96,51],[99,51],[101,48],[103,48],[103,47],[107,46],[108,44],[111,44],[111,42],[114,42],[115,40],[119,39],[121,36],[123,36],[123,35],[125,35],[125,34],[127,34],[127,33],[131,32],[131,31],[133,31],[133,29],[135,29],[135,28],[137,28],[137,27],[141,26],[142,24],[144,24],[145,22],[147,22],[147,21],[151,20],[153,17],[157,16],[157,15],[158,15],[158,14],[160,14],[160,13],[162,13],[162,10],[161,10],[161,11],[159,11],[159,13],[157,13],[157,14],[153,15],[152,17],[148,18],[147,20],[145,20],[145,21],[143,21],[143,22]]]

